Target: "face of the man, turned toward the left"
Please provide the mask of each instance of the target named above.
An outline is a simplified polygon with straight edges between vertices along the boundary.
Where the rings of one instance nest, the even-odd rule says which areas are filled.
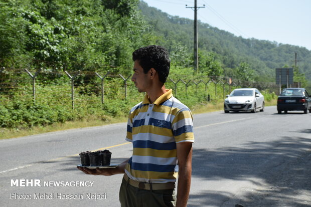
[[[138,92],[146,92],[150,85],[148,80],[148,73],[150,71],[147,74],[144,74],[143,69],[137,60],[134,62],[133,71],[134,74],[132,76],[132,81],[134,82]]]

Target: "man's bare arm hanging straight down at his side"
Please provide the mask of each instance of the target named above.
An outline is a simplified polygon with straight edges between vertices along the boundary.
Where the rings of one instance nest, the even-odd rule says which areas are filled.
[[[192,142],[177,143],[178,186],[176,207],[187,206],[192,167]]]

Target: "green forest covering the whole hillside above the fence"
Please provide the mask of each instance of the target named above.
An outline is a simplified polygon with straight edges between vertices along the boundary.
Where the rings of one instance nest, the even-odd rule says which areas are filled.
[[[208,24],[198,25],[202,75],[274,82],[275,68],[293,66],[297,53],[295,81],[306,86],[305,77],[311,79],[311,52],[305,48],[243,39]],[[0,67],[7,70],[129,74],[131,53],[150,44],[169,50],[173,73],[193,71],[193,21],[142,1],[0,1]],[[80,77],[77,84],[88,82],[92,80]]]

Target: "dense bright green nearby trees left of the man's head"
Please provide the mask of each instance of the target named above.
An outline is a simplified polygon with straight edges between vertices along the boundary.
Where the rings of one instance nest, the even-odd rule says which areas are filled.
[[[137,3],[2,0],[0,64],[69,71],[128,68],[132,51],[153,38]]]

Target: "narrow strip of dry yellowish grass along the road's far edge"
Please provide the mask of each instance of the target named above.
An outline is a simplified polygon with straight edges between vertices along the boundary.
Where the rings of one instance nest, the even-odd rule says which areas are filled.
[[[274,106],[276,99],[265,101],[265,106]],[[201,103],[192,108],[193,114],[210,113],[223,110],[223,102],[219,103]],[[37,126],[31,129],[6,129],[0,128],[0,139],[17,138],[23,136],[30,136],[35,134],[42,134],[47,132],[62,131],[67,129],[77,129],[83,127],[102,126],[113,123],[126,122],[127,117],[113,117],[107,121],[89,120],[89,121],[68,121],[65,123],[54,123],[47,126]]]

